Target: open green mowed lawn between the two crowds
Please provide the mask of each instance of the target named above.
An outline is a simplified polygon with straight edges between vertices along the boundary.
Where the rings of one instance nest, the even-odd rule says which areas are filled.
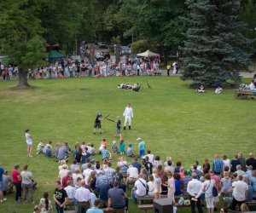
[[[142,83],[145,79],[152,89],[147,83],[138,93],[117,89],[118,83]],[[102,135],[93,135],[96,112],[115,119],[122,116],[127,103],[133,107],[134,118],[132,130],[122,130],[122,135],[126,147],[132,143],[136,153],[138,136],[154,155],[160,155],[163,161],[172,156],[174,162],[181,160],[185,168],[195,160],[200,164],[204,158],[212,160],[215,153],[232,158],[241,152],[247,158],[247,153],[256,150],[256,102],[236,100],[234,89],[224,89],[220,95],[214,94],[213,89],[198,94],[178,77],[73,78],[29,83],[35,88],[17,90],[12,89],[15,81],[0,82],[0,161],[9,172],[14,164],[29,165],[38,181],[34,191],[37,203],[44,191],[49,191],[52,200],[58,175],[54,159],[36,154],[38,141],[50,140],[54,145],[68,141],[71,147],[76,141],[85,141],[94,143],[97,149],[106,138],[110,145],[115,124],[102,121]],[[26,129],[33,136],[33,158],[26,157]],[[114,157],[114,166],[118,157]],[[32,212],[32,204],[15,204],[14,195],[7,198],[0,204],[0,212]],[[129,212],[139,210],[131,204]]]

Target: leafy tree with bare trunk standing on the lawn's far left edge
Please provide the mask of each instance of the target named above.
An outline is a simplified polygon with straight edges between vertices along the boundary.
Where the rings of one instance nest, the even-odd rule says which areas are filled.
[[[38,14],[39,0],[0,1],[0,52],[19,66],[17,87],[29,87],[26,73],[44,63],[43,28]]]

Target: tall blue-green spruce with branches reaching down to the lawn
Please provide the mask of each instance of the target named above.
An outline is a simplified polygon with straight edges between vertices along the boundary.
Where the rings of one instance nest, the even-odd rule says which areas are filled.
[[[191,14],[183,53],[183,80],[216,86],[233,80],[247,69],[250,41],[241,32],[239,0],[188,0]]]

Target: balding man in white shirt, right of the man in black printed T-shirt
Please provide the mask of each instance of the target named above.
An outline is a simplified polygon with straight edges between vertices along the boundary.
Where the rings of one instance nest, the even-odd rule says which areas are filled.
[[[78,202],[78,213],[85,213],[90,209],[90,190],[85,188],[85,181],[80,181],[80,187],[75,193]]]

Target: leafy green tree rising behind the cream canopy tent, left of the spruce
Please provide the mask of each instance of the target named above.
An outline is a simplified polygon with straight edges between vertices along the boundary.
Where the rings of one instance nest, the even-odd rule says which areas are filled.
[[[164,56],[168,50],[177,50],[185,32],[183,20],[187,13],[184,0],[122,0],[120,18],[126,26],[124,36],[146,40],[160,46]],[[146,50],[146,49],[145,49]],[[166,57],[165,57],[166,58]]]

